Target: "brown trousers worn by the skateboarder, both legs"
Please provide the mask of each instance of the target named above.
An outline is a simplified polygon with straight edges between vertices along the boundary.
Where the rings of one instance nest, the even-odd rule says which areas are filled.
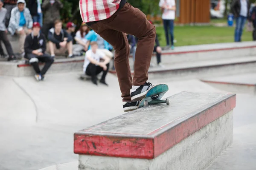
[[[109,42],[115,49],[114,65],[124,102],[131,101],[132,85],[144,85],[148,80],[148,68],[153,54],[156,30],[145,14],[126,3],[112,17],[90,26],[97,34]],[[138,37],[134,63],[134,81],[132,83],[129,66],[129,44],[122,32]]]

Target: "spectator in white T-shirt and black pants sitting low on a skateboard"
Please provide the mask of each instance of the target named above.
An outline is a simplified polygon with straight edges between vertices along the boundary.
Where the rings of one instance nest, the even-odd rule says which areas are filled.
[[[103,59],[104,62],[100,62],[100,59]],[[108,73],[109,61],[110,58],[98,49],[97,42],[91,42],[91,49],[85,53],[83,66],[84,74],[91,76],[92,82],[97,85],[96,76],[103,71],[102,78],[99,82],[108,85],[105,78]]]

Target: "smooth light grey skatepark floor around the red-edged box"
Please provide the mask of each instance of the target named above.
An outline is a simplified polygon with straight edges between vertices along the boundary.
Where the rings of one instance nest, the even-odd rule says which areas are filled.
[[[107,77],[109,87],[96,87],[78,77],[79,73],[54,74],[44,82],[33,77],[0,77],[0,170],[38,170],[77,161],[73,133],[124,113],[114,75]],[[183,90],[219,91],[194,79],[157,81],[150,80],[169,85],[165,97]],[[251,137],[256,130],[255,102],[255,96],[238,94],[234,144],[209,170],[255,167],[256,138]]]

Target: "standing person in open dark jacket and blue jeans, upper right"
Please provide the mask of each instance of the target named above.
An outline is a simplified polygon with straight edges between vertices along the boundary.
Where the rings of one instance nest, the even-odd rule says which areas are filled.
[[[233,0],[230,9],[236,18],[235,42],[240,42],[244,24],[250,10],[249,0]]]

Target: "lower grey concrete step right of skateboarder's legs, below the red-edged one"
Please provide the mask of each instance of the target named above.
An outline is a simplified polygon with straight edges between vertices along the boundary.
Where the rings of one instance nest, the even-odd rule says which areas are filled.
[[[111,70],[115,74],[116,71]],[[154,79],[184,79],[223,76],[256,72],[256,57],[206,60],[166,65],[165,68],[149,68],[148,74]],[[133,74],[133,71],[131,72]]]

